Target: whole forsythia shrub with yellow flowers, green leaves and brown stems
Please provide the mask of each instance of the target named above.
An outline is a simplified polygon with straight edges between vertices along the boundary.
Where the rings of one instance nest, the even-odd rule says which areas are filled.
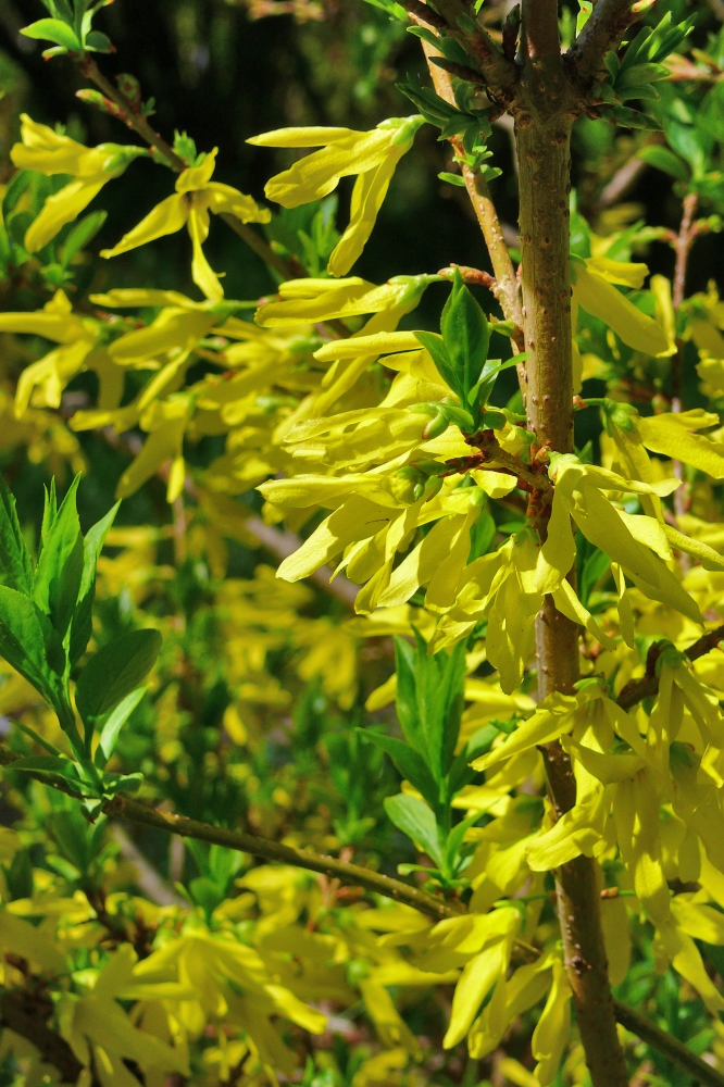
[[[721,1087],[724,303],[685,284],[724,33],[676,0],[372,0],[422,39],[419,112],[249,134],[284,152],[271,209],[102,74],[103,0],[43,2],[22,33],[133,135],[23,113],[2,190],[3,1083]],[[635,134],[678,233],[579,213],[574,122]],[[430,127],[494,275],[365,279]],[[141,167],[167,195],[92,252]],[[204,251],[226,227],[252,305]],[[194,297],[111,285],[184,230]]]

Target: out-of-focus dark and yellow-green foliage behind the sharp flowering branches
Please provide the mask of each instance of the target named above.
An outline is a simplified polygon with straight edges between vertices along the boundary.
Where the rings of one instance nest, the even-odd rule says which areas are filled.
[[[695,46],[703,47],[717,32],[719,3],[711,0],[711,7],[696,7]],[[683,17],[684,0],[678,9],[676,17]],[[36,0],[0,2],[0,184],[12,174],[9,150],[18,138],[18,115],[24,111],[51,126],[60,121],[68,135],[88,145],[136,142],[117,121],[75,98],[84,83],[70,60],[47,63],[40,42],[20,35],[20,28],[39,14]],[[575,17],[573,5],[566,17]],[[187,132],[200,150],[220,147],[217,179],[258,199],[270,174],[288,164],[290,157],[251,147],[245,142],[249,136],[287,125],[369,128],[383,117],[410,113],[410,103],[395,85],[423,70],[420,45],[403,25],[361,0],[116,0],[103,13],[102,24],[117,49],[117,54],[103,58],[107,74],[133,72],[143,97],[155,99],[153,124],[166,137],[174,129]],[[666,92],[672,87],[696,107],[701,90],[696,82],[670,84]],[[591,228],[606,236],[645,221],[649,234],[636,255],[645,257],[652,273],[671,278],[674,254],[661,234],[678,229],[681,197],[669,174],[637,154],[658,139],[650,133],[583,118],[574,133],[573,176],[577,208]],[[489,147],[502,168],[492,182],[492,195],[514,247],[516,178],[510,130],[494,125]],[[357,274],[380,283],[392,274],[436,272],[451,261],[489,267],[465,191],[437,178],[449,168],[448,145],[425,127],[399,165]],[[342,212],[351,191],[346,183],[340,186]],[[139,161],[122,185],[107,186],[91,205],[109,212],[93,251],[117,240],[167,191],[166,173],[147,160]],[[227,270],[227,297],[255,300],[273,291],[275,284],[265,266],[222,224],[212,226],[207,251],[214,267]],[[78,297],[124,286],[176,289],[196,297],[185,234],[126,253],[112,266],[88,260],[74,272]],[[721,291],[724,268],[714,234],[697,240],[687,292],[706,290],[712,279]],[[48,297],[34,297],[23,283],[0,283],[2,309],[35,309]],[[436,327],[442,297],[435,290],[426,293],[415,315],[417,326],[422,321]],[[489,295],[485,304],[496,310]],[[92,401],[95,378],[87,374],[71,383],[57,422],[36,412],[13,430],[14,380],[30,361],[22,350],[15,338],[3,337],[0,401],[2,397],[8,401],[0,432],[3,474],[17,496],[23,524],[28,534],[37,535],[41,488],[49,474],[66,485],[74,471],[86,470],[79,507],[88,525],[107,511],[133,450],[93,430],[73,435],[63,427],[63,415]],[[686,400],[694,407],[699,393],[694,366],[688,368],[692,383]],[[513,393],[513,375],[501,378],[503,403]],[[603,391],[606,385],[599,384]],[[588,388],[591,395],[598,391]],[[594,416],[582,413],[581,425],[594,429],[578,435],[581,446],[596,436]],[[205,464],[222,448],[223,439],[204,438],[189,450],[189,459]],[[261,507],[254,492],[244,500]],[[376,748],[359,741],[351,727],[365,714],[370,694],[391,673],[388,634],[395,632],[365,629],[364,621],[348,621],[344,602],[314,587],[275,582],[273,557],[250,535],[221,540],[213,523],[199,521],[180,540],[177,513],[175,520],[165,501],[164,480],[149,480],[123,503],[100,565],[98,645],[142,625],[149,616],[164,634],[157,685],[124,734],[122,764],[141,770],[157,798],[197,819],[321,850],[342,850],[344,855],[354,854],[361,863],[390,873],[398,862],[414,861],[407,838],[379,817],[382,799],[398,790],[399,777]],[[407,621],[400,629],[409,630]],[[0,688],[0,714],[34,723],[48,737],[55,727],[17,677]],[[369,722],[370,715],[364,720]],[[391,711],[377,711],[376,720],[391,720]],[[478,713],[476,721],[484,720],[485,714]],[[16,750],[30,750],[16,730],[12,742]],[[149,879],[157,875],[171,901],[182,895],[200,908],[213,909],[226,894],[224,876],[214,899],[205,854],[185,851],[178,839],[170,842],[151,830],[136,845],[116,840],[110,852],[93,853],[97,844],[89,846],[90,860],[86,858],[84,867],[77,842],[73,845],[80,830],[71,828],[64,837],[57,834],[53,826],[62,821],[53,824],[53,812],[36,794],[20,774],[7,775],[2,822],[26,819],[25,848],[4,871],[10,900],[28,897],[34,869],[47,873],[48,879],[64,880],[65,894],[83,891],[100,917],[109,888],[130,894],[140,879],[143,892],[150,894]],[[35,814],[28,822],[30,809]],[[48,841],[54,841],[57,853]],[[140,862],[134,852],[137,847]],[[170,892],[174,884],[176,891]],[[326,888],[324,910],[332,912],[344,902],[344,892],[339,900],[338,894],[338,888]],[[137,919],[127,927],[141,938]],[[679,1002],[673,973],[656,977],[650,949],[641,947],[640,962],[626,983],[632,991],[621,995],[632,1003],[649,1000],[661,1025],[703,1049],[710,1036],[699,1037],[706,1023],[701,1002],[690,992]],[[473,1087],[478,1072],[486,1070],[466,1063],[460,1047],[441,1055],[446,999],[442,990],[404,998],[407,1022],[423,1036],[426,1054],[424,1073],[410,1073],[408,1082]],[[303,1080],[308,1087],[402,1082],[392,1065],[383,1069],[379,1080],[360,1077],[359,1047],[369,1045],[374,1035],[358,1012],[354,1022],[346,1021],[336,1037],[325,1036],[310,1052]],[[513,1057],[524,1059],[529,1027],[523,1024],[520,1037],[512,1038]],[[647,1082],[676,1087],[687,1083],[646,1047],[638,1047],[638,1057],[649,1070]],[[578,1051],[560,1083],[585,1082],[579,1065]],[[509,1072],[511,1082],[529,1082],[520,1078],[525,1070],[515,1072],[511,1065]],[[11,1083],[12,1075],[3,1082]]]

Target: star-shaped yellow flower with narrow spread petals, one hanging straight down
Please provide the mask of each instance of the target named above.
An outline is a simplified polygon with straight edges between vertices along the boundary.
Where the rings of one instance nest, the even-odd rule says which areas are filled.
[[[126,234],[113,249],[103,249],[101,257],[117,257],[148,241],[175,234],[187,227],[194,246],[191,275],[207,298],[220,301],[224,291],[217,276],[203,254],[202,243],[209,237],[209,212],[236,215],[242,223],[269,223],[271,213],[230,185],[212,182],[217,148],[210,151],[197,166],[189,166],[176,179],[176,192],[166,197],[146,218]]]

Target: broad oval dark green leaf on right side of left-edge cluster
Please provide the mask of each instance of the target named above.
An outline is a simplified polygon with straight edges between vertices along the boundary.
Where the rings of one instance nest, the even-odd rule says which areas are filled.
[[[86,726],[92,726],[141,685],[159,655],[161,641],[158,630],[133,630],[90,658],[75,688],[75,704]]]

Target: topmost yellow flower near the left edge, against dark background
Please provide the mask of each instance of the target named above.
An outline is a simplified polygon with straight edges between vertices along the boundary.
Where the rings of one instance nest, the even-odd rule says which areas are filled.
[[[75,178],[48,197],[40,214],[27,228],[24,245],[28,253],[35,253],[47,246],[66,223],[72,223],[107,182],[120,177],[133,159],[148,154],[148,151],[142,147],[120,143],[84,147],[70,136],[37,124],[27,113],[21,116],[23,142],[15,143],[10,152],[17,168],[37,170],[41,174],[72,174]]]

